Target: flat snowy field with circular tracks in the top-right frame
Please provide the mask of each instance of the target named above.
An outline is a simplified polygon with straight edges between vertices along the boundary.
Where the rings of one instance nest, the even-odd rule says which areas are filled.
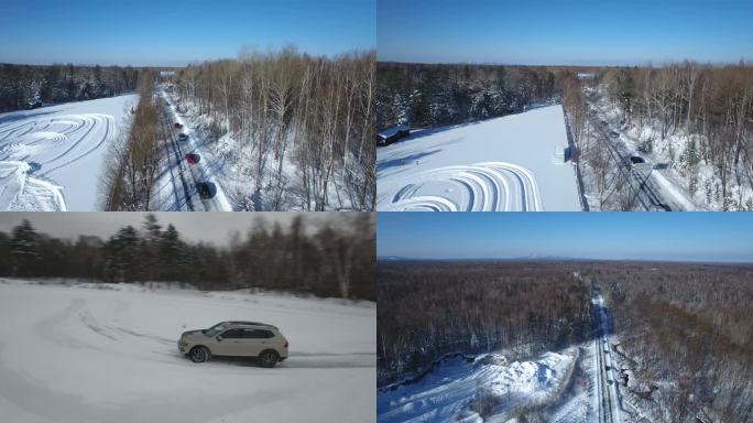
[[[414,132],[378,149],[376,209],[580,210],[561,106]]]

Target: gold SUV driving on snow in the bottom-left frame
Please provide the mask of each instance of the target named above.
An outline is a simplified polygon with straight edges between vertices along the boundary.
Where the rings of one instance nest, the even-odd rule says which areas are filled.
[[[222,322],[208,329],[184,332],[178,350],[194,362],[211,356],[257,357],[262,367],[274,367],[287,358],[287,339],[264,323]]]

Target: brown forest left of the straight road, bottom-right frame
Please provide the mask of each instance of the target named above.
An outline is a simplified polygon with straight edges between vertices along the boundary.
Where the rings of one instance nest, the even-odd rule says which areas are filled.
[[[559,264],[380,261],[376,281],[379,384],[447,354],[537,354],[590,334],[589,289]]]

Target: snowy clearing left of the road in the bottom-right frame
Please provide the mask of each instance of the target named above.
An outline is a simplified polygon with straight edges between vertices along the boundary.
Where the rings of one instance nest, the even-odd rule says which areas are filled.
[[[578,348],[546,352],[532,360],[508,361],[500,354],[472,362],[452,358],[419,382],[380,390],[380,422],[481,422],[470,403],[480,394],[495,398],[491,421],[505,422],[521,410],[547,409],[553,422],[583,422],[590,413],[588,390],[569,383]]]

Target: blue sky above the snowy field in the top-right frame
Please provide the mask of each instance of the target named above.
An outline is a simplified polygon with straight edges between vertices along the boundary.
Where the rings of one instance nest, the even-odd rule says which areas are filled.
[[[751,0],[379,0],[380,61],[661,64],[753,59]]]

